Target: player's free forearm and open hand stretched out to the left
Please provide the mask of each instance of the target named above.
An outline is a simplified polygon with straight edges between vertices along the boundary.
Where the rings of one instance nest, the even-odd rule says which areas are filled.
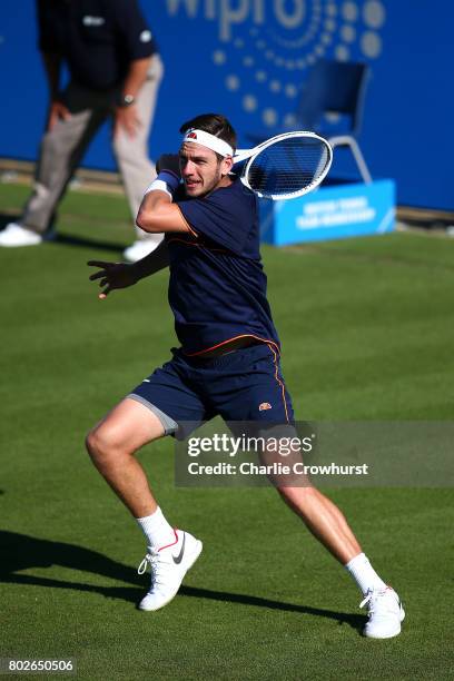
[[[103,300],[111,290],[116,288],[128,288],[140,279],[160,272],[169,265],[167,244],[161,241],[159,246],[137,263],[106,263],[105,260],[89,260],[90,267],[100,267],[98,272],[90,275],[90,282],[100,279],[102,288],[98,295]]]

